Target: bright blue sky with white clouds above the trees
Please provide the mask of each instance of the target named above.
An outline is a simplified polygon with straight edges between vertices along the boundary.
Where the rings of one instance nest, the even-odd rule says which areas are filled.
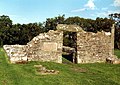
[[[110,13],[120,13],[120,0],[0,0],[0,16],[9,16],[13,24],[44,22],[63,14],[96,19]]]

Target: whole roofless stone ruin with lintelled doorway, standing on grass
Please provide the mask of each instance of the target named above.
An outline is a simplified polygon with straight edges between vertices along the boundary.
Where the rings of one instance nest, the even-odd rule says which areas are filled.
[[[64,31],[73,32],[77,36],[75,49],[63,46]],[[4,45],[3,48],[11,63],[21,61],[62,63],[62,51],[72,52],[74,63],[105,62],[108,57],[115,58],[114,30],[112,32],[86,32],[77,25],[59,24],[56,31],[40,33],[27,45]]]

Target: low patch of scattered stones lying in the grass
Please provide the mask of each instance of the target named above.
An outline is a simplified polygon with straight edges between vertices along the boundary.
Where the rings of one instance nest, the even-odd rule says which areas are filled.
[[[37,74],[41,74],[41,75],[58,74],[59,73],[59,71],[46,69],[46,67],[44,67],[42,65],[34,65],[34,67],[36,68]]]

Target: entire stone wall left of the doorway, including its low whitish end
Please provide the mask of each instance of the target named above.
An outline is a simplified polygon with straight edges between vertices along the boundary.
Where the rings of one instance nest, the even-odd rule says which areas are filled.
[[[27,45],[4,45],[11,63],[21,61],[53,61],[62,63],[63,32],[41,33]]]

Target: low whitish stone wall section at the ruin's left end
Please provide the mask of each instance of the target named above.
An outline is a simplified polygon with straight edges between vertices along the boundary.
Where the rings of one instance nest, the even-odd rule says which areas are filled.
[[[27,61],[26,45],[4,45],[3,48],[11,63]]]

